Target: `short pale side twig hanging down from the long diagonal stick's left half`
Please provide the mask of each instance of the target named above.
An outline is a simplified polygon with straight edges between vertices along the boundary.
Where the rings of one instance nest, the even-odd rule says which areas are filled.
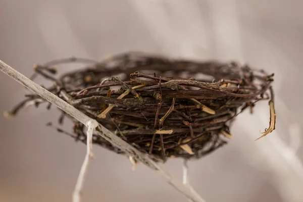
[[[73,202],[80,202],[81,201],[81,194],[82,194],[82,189],[83,189],[83,185],[84,185],[84,179],[85,179],[85,175],[87,172],[87,168],[88,168],[88,163],[89,160],[92,159],[93,154],[92,154],[92,133],[93,133],[93,129],[96,128],[98,125],[94,125],[94,123],[92,121],[88,121],[87,123],[87,132],[86,132],[86,156],[85,159],[83,161],[79,176],[78,176],[78,180],[76,183],[76,187],[73,193]]]

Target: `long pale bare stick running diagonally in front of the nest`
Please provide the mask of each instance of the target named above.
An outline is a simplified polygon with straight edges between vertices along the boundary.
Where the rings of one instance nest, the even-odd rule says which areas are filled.
[[[111,142],[113,145],[121,148],[127,155],[132,156],[136,160],[140,161],[141,163],[148,166],[151,170],[154,170],[158,175],[160,175],[162,178],[164,178],[165,181],[167,181],[169,184],[171,184],[173,187],[175,187],[179,192],[184,194],[187,198],[191,199],[194,202],[205,202],[201,196],[199,196],[193,189],[184,186],[182,183],[177,181],[175,178],[173,178],[167,171],[162,169],[156,162],[151,160],[147,154],[142,154],[139,150],[137,150],[132,145],[128,144],[124,140],[122,140],[117,135],[113,134],[111,131],[109,131],[104,126],[100,125],[96,120],[89,118],[73,106],[66,103],[64,100],[56,96],[55,94],[47,91],[46,89],[42,88],[38,84],[34,83],[9,65],[5,64],[0,60],[0,70],[10,76],[11,78],[15,79],[31,91],[35,92],[39,96],[46,99],[48,102],[56,105],[58,108],[65,111],[67,114],[71,115],[78,121],[80,121],[82,124],[84,124],[86,127],[89,127],[88,123],[91,121],[93,125],[97,125],[95,130],[97,133]]]

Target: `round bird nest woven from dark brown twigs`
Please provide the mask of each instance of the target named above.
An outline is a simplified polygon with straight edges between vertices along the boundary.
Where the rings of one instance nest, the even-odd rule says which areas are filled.
[[[89,64],[55,77],[56,66],[64,63]],[[48,91],[156,160],[198,159],[211,153],[232,137],[230,125],[235,117],[247,108],[252,113],[260,100],[270,100],[271,110],[270,127],[263,136],[275,127],[273,74],[235,62],[125,53],[103,62],[77,58],[52,61],[36,65],[34,71],[34,76],[53,82]],[[29,104],[38,107],[46,102],[35,94],[26,97],[7,115],[14,116]],[[60,124],[64,117],[73,121],[73,132],[58,131],[85,143],[85,126],[63,111]],[[97,134],[92,141],[123,154]]]

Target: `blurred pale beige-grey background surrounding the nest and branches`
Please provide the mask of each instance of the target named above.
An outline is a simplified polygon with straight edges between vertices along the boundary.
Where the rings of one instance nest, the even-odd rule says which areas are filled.
[[[254,141],[269,124],[267,102],[257,105],[255,115],[236,121],[228,145],[189,162],[190,182],[210,202],[299,202],[302,8],[299,0],[2,0],[0,60],[27,77],[36,63],[125,51],[236,60],[274,72],[276,130]],[[24,88],[3,73],[0,79],[3,112],[23,99]],[[0,118],[0,201],[71,201],[85,146],[45,126],[59,115],[41,106]],[[186,201],[145,166],[132,171],[127,158],[93,149],[83,201]],[[181,180],[180,160],[163,166]]]

